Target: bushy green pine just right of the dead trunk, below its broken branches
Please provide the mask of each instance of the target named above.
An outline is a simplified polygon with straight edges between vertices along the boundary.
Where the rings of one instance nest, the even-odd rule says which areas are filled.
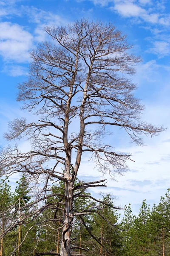
[[[91,233],[100,244],[94,239],[89,253],[96,256],[118,255],[122,246],[119,215],[116,209],[108,206],[113,205],[111,195],[104,196],[102,201],[107,205],[99,204],[97,207],[100,210],[93,215],[91,221]]]

